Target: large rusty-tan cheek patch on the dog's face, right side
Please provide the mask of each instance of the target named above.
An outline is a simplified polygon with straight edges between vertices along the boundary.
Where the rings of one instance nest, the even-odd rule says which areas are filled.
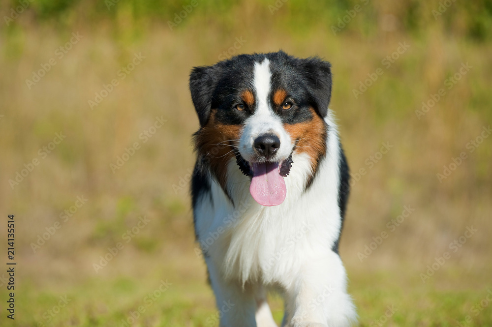
[[[284,124],[283,127],[289,133],[291,139],[297,141],[294,152],[307,153],[311,157],[311,170],[314,174],[318,168],[319,161],[326,154],[327,126],[324,120],[314,112],[314,109],[309,108],[309,111],[312,116],[311,120],[297,124]]]

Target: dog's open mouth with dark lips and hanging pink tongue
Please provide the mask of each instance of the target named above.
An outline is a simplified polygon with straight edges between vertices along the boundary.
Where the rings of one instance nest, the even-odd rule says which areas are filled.
[[[280,162],[247,162],[239,152],[236,162],[244,175],[251,177],[249,193],[262,206],[278,206],[285,200],[287,188],[284,177],[292,168],[292,153]]]

